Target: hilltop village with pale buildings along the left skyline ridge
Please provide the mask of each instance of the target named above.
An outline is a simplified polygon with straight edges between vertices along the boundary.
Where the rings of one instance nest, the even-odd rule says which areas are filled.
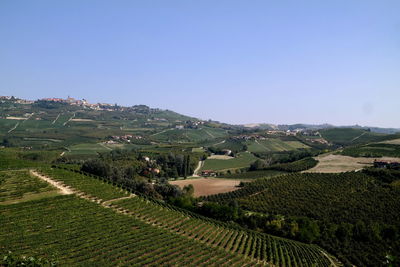
[[[112,104],[108,104],[108,103],[91,104],[86,99],[79,100],[79,99],[75,99],[75,98],[69,97],[69,96],[66,99],[53,97],[53,98],[42,98],[42,99],[38,99],[36,101],[19,99],[14,96],[0,96],[0,102],[4,102],[4,101],[13,101],[18,104],[26,104],[26,105],[45,101],[45,102],[69,104],[72,106],[81,106],[81,107],[91,108],[91,109],[95,109],[95,110],[107,110],[107,109],[114,110],[115,107],[117,106],[117,105],[112,105]],[[119,107],[120,109],[123,108],[120,106],[117,106],[117,107]]]

